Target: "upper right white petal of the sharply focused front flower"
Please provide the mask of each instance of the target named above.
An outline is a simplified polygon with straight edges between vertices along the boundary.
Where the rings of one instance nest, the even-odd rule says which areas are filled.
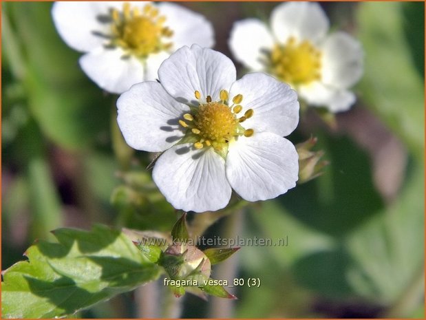
[[[243,96],[241,114],[248,109],[254,111],[251,118],[242,122],[244,128],[287,136],[297,127],[299,102],[296,92],[286,83],[262,72],[246,74],[231,87],[231,98],[237,94]]]

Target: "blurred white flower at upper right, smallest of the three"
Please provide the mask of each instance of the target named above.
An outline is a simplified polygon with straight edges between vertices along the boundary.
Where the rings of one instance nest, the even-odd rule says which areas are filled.
[[[257,19],[237,21],[229,47],[237,61],[289,83],[307,103],[345,111],[356,98],[348,88],[363,73],[363,52],[345,32],[327,35],[329,21],[318,3],[282,3],[270,28]]]

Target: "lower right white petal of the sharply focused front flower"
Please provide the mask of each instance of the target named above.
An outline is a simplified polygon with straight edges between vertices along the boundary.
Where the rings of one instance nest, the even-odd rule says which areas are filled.
[[[229,147],[226,177],[245,200],[267,200],[296,186],[299,157],[286,138],[262,132]]]

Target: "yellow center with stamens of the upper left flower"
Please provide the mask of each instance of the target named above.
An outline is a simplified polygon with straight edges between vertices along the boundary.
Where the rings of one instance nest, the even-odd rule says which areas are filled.
[[[111,10],[111,45],[123,47],[129,54],[146,58],[149,54],[169,50],[173,43],[164,38],[173,36],[173,31],[164,27],[166,17],[158,15],[158,9],[145,5],[142,12],[123,3],[123,12]]]

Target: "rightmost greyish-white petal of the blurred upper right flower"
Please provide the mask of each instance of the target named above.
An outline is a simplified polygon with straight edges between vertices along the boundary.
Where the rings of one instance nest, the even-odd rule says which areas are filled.
[[[346,32],[335,32],[323,43],[321,81],[334,87],[354,85],[363,74],[361,44]]]

